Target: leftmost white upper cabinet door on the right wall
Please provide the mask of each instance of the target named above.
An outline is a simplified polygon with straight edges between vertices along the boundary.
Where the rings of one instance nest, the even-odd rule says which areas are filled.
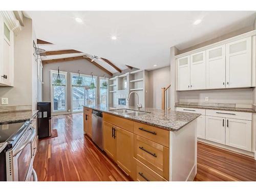
[[[190,88],[190,56],[184,56],[177,59],[178,86],[179,91]]]

